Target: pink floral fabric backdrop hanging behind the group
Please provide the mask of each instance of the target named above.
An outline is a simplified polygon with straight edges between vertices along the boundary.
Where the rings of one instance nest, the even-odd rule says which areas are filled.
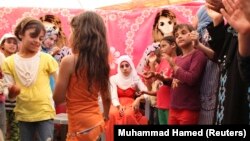
[[[152,27],[157,12],[162,9],[170,9],[176,14],[178,23],[191,23],[201,4],[191,2],[182,5],[127,11],[96,10],[104,19],[107,27],[111,74],[116,73],[116,59],[121,55],[131,56],[135,66],[138,65],[143,52],[152,44]],[[82,9],[0,7],[0,37],[4,33],[13,32],[22,18],[27,16],[38,18],[48,13],[59,16],[62,20],[63,31],[68,36],[70,20],[81,12],[83,12]]]

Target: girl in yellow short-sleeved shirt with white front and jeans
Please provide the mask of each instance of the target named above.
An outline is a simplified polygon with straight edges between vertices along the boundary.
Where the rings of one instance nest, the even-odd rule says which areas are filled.
[[[21,88],[14,112],[19,122],[21,141],[53,138],[54,102],[49,76],[56,77],[58,64],[49,54],[39,52],[45,35],[43,24],[31,17],[24,18],[15,28],[22,42],[19,52],[6,58],[2,69],[9,84]]]

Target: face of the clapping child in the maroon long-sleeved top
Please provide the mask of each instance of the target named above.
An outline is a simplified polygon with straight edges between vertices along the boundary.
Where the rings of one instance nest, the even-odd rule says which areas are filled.
[[[179,28],[174,33],[176,44],[180,48],[185,48],[185,47],[190,46],[192,44],[190,33],[191,32],[188,30],[187,27]]]

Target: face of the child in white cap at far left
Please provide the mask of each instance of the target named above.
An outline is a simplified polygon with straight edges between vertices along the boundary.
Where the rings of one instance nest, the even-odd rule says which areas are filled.
[[[3,44],[3,50],[8,54],[16,53],[17,51],[17,40],[14,38],[7,38]]]

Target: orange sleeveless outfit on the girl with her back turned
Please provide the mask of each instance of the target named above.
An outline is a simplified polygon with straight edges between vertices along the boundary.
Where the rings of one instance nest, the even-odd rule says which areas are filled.
[[[95,141],[104,131],[104,120],[98,105],[98,91],[87,91],[87,81],[72,74],[66,94],[68,113],[67,141]]]

